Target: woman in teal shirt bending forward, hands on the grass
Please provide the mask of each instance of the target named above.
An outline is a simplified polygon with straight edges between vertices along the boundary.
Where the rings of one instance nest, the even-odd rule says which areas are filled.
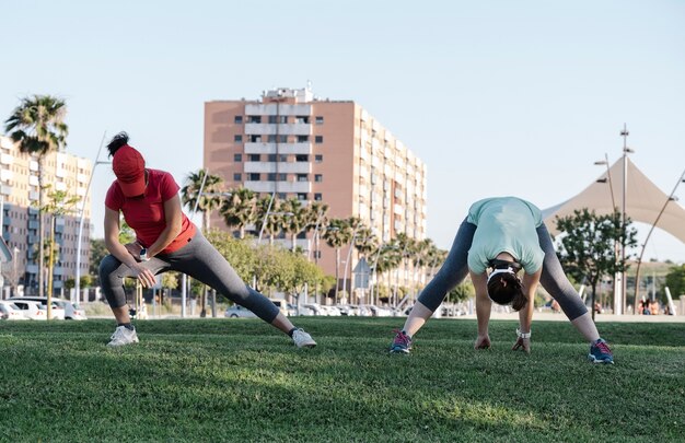
[[[521,270],[522,278],[519,277]],[[488,198],[472,205],[448,258],[421,291],[403,330],[396,334],[391,352],[410,351],[414,335],[440,306],[445,294],[468,272],[476,289],[476,349],[490,347],[488,324],[491,304],[496,302],[511,303],[513,310],[519,311],[519,328],[512,349],[530,352],[533,301],[537,284],[542,282],[590,342],[588,358],[595,363],[614,362],[588,307],[561,269],[541,210],[516,197]]]

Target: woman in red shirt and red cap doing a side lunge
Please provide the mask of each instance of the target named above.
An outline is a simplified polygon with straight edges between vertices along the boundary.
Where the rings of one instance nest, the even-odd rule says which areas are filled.
[[[124,292],[124,278],[136,278],[143,288],[154,276],[174,270],[184,272],[259,318],[288,334],[299,347],[316,342],[280,313],[266,296],[247,287],[227,259],[183,213],[178,185],[171,174],[146,167],[128,135],[120,132],[107,145],[116,180],[105,197],[105,246],[111,255],[100,264],[100,281],[117,328],[109,346],[138,342]],[[136,242],[119,243],[119,214],[136,232]]]

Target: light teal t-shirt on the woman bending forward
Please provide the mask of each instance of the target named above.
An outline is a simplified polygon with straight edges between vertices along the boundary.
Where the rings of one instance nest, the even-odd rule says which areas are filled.
[[[511,254],[526,273],[543,266],[545,253],[535,231],[543,223],[543,213],[535,205],[516,197],[486,198],[471,206],[466,221],[477,226],[468,249],[473,272],[485,272],[500,253]]]

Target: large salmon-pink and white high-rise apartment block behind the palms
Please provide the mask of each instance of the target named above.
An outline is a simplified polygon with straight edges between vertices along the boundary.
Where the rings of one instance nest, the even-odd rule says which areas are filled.
[[[426,165],[352,101],[281,88],[258,101],[207,102],[204,165],[227,188],[322,201],[330,218],[359,217],[383,242],[398,233],[426,237]],[[225,226],[218,214],[211,220]],[[301,235],[299,246],[311,249],[312,236]],[[318,264],[335,275],[334,249],[322,245]]]

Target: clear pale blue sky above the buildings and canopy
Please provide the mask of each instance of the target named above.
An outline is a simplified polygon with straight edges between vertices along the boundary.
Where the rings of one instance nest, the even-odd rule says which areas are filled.
[[[428,235],[468,206],[541,208],[622,155],[666,194],[685,168],[685,1],[3,1],[0,117],[67,101],[68,151],[126,130],[179,184],[202,164],[204,103],[304,88],[352,100],[428,165]],[[95,170],[95,234],[114,178]],[[685,184],[676,196],[685,201]],[[684,221],[685,223],[685,221]],[[641,225],[641,236],[648,225]],[[660,232],[646,258],[685,261]]]

